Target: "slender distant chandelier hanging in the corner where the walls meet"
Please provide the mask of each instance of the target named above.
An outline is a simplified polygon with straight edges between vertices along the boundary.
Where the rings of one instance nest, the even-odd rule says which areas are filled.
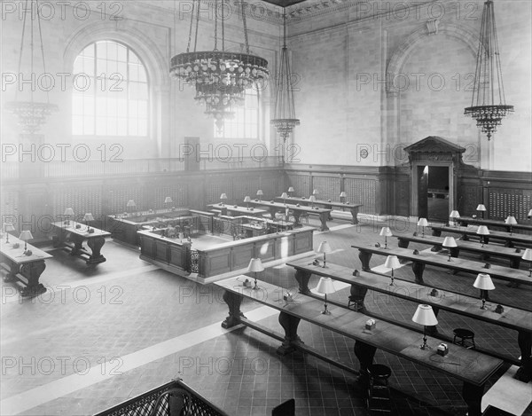
[[[270,123],[275,126],[279,137],[283,139],[281,161],[285,163],[286,138],[290,136],[299,119],[295,118],[293,105],[293,80],[290,72],[288,48],[286,47],[286,8],[283,9],[283,47],[281,49],[277,90],[275,95],[274,117]]]

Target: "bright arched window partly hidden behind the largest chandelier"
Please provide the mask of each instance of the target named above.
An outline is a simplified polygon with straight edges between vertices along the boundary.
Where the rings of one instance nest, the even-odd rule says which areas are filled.
[[[260,94],[257,88],[246,90],[244,106],[236,108],[235,116],[223,122],[219,130],[214,124],[216,138],[259,138]]]

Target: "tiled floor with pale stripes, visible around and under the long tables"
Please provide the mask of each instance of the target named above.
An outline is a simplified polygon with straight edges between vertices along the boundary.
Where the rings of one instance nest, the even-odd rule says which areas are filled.
[[[318,224],[310,218],[310,225]],[[334,249],[328,262],[359,268],[351,244],[380,241],[383,225],[335,221],[332,232],[315,234],[315,246],[327,239]],[[415,225],[404,222],[387,225],[395,234],[415,231]],[[395,239],[388,244],[394,247]],[[279,342],[250,328],[223,330],[227,307],[214,286],[161,271],[141,261],[137,250],[112,239],[102,253],[106,263],[87,266],[51,250],[54,257],[42,277],[49,291],[34,300],[20,299],[4,284],[2,415],[92,414],[177,376],[231,415],[268,415],[291,397],[298,416],[368,414],[355,374],[300,352],[278,357]],[[372,267],[382,263],[384,257],[372,257]],[[395,275],[413,280],[409,265]],[[472,275],[427,267],[424,278],[428,285],[476,295]],[[286,266],[268,269],[262,279],[297,287],[293,270]],[[316,283],[313,278],[309,286]],[[529,286],[508,288],[497,280],[495,285],[498,302],[531,304]],[[346,302],[347,296],[348,288],[343,288],[331,299]],[[366,306],[372,313],[411,323],[417,305],[370,292]],[[244,302],[242,310],[247,318],[282,333],[275,311],[253,302]],[[443,336],[450,336],[454,327],[471,327],[477,345],[519,357],[517,334],[511,330],[445,311],[438,318]],[[309,346],[358,368],[352,341],[304,322],[299,334]],[[392,368],[393,415],[465,414],[457,380],[382,351],[375,362]],[[532,410],[525,414],[532,415]]]

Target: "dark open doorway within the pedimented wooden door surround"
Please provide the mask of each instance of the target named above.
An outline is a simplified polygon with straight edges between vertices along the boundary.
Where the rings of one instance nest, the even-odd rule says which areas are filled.
[[[450,213],[448,166],[418,166],[418,216],[447,221]]]

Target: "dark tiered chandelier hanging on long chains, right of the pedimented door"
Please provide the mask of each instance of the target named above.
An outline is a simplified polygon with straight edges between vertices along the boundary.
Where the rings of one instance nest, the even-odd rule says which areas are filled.
[[[489,140],[508,113],[513,113],[513,106],[506,105],[495,12],[493,1],[488,0],[482,11],[473,98],[471,106],[465,108],[464,114],[471,115],[476,120],[477,126],[481,128],[482,133],[487,134]]]

